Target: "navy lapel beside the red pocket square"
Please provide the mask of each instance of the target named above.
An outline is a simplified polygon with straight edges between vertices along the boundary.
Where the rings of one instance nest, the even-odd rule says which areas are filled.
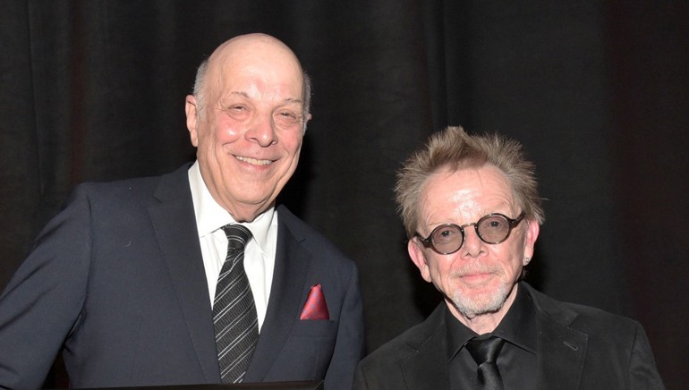
[[[259,343],[253,352],[245,381],[263,380],[292,331],[299,315],[304,284],[310,267],[310,253],[302,249],[300,239],[286,225],[284,213],[278,212],[277,245],[273,284],[268,312],[260,329]]]

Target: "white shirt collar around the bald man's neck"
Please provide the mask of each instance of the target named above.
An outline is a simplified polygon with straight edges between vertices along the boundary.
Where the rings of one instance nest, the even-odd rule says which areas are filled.
[[[230,213],[218,205],[216,199],[210,195],[206,183],[203,182],[198,160],[189,168],[189,184],[199,237],[215,233],[217,229],[227,224],[236,224]],[[271,207],[259,214],[253,221],[242,223],[251,230],[251,234],[261,250],[267,248],[268,228],[273,223],[274,216],[275,208]]]

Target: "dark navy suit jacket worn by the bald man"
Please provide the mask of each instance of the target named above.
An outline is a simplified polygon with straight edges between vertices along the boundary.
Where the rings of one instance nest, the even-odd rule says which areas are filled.
[[[185,165],[75,188],[0,298],[0,387],[36,388],[64,347],[71,386],[219,383]],[[277,208],[268,312],[245,382],[350,388],[363,351],[355,265]],[[321,284],[328,320],[300,320]]]

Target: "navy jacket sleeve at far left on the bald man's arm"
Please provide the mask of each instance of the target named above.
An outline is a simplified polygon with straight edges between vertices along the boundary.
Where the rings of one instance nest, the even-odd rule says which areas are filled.
[[[39,388],[75,326],[89,274],[84,187],[38,235],[0,296],[0,388]]]

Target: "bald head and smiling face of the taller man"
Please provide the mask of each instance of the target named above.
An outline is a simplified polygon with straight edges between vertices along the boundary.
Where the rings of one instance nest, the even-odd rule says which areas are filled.
[[[186,100],[200,172],[217,203],[238,222],[273,205],[302,148],[303,73],[282,42],[234,38],[208,59],[202,90]]]

